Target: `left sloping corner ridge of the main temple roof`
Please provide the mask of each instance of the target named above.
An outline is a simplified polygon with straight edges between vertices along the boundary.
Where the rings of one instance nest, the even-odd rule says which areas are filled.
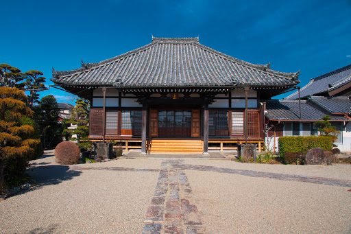
[[[125,58],[128,57],[132,54],[137,54],[140,53],[141,51],[144,51],[145,49],[149,49],[150,47],[156,45],[155,42],[149,43],[147,45],[144,45],[143,47],[139,47],[137,49],[133,49],[131,51],[128,51],[124,54],[120,54],[119,56],[114,56],[112,58],[108,58],[106,60],[102,60],[100,62],[91,62],[91,63],[84,63],[82,61],[82,67],[78,68],[78,69],[73,69],[73,70],[69,70],[69,71],[56,71],[55,69],[53,69],[53,78],[55,78],[55,75],[71,75],[74,73],[78,73],[78,72],[82,72],[82,71],[86,71],[90,68],[93,67],[99,67],[100,65],[107,65],[110,62],[114,62],[116,60],[119,60],[121,58]]]

